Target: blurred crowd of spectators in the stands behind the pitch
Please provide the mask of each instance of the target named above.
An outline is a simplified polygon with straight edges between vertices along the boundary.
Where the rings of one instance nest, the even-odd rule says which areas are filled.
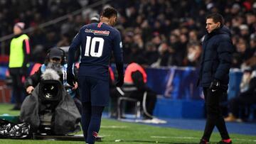
[[[14,23],[23,21],[32,44],[32,61],[43,62],[43,53],[55,46],[70,45],[80,26],[89,23],[102,5],[87,8],[96,0],[1,0],[0,37],[12,33]],[[141,61],[151,67],[198,65],[206,33],[206,15],[218,12],[233,34],[233,67],[256,65],[256,2],[253,0],[112,0],[119,11],[116,28],[122,33],[124,62]],[[85,8],[78,15],[71,12]],[[54,18],[68,14],[45,28],[38,28]],[[9,49],[6,46],[5,49]]]

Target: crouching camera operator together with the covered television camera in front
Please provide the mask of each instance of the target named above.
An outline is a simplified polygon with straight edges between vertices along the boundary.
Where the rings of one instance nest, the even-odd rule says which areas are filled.
[[[23,101],[20,117],[31,124],[33,132],[50,129],[46,133],[65,135],[76,130],[80,122],[80,100],[72,93],[78,84],[65,89],[66,67],[65,52],[51,48],[45,64],[26,79],[26,92],[30,95]],[[75,95],[73,99],[70,94]]]

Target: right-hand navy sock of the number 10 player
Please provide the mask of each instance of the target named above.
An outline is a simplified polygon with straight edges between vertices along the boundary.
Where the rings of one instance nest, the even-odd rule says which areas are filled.
[[[100,122],[104,106],[92,106],[92,116],[90,126],[87,131],[86,143],[93,144],[97,138],[97,133],[100,131]]]

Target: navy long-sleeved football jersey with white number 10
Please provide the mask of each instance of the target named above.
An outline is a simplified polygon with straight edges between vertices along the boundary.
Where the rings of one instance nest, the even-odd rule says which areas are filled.
[[[123,62],[121,35],[117,29],[105,23],[91,23],[80,28],[68,50],[69,72],[72,72],[75,50],[78,48],[81,48],[78,76],[108,80],[112,51],[115,62]]]

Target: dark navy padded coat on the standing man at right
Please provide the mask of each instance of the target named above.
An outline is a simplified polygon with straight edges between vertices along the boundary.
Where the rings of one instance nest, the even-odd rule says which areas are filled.
[[[210,82],[218,79],[220,86],[228,89],[233,51],[231,34],[227,27],[222,26],[205,35],[199,74],[201,87],[210,87]]]

